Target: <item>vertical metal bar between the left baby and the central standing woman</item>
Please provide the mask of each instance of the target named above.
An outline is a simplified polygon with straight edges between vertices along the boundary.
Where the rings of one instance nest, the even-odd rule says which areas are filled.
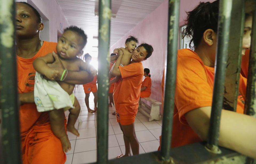
[[[107,163],[111,0],[99,1],[97,163]]]

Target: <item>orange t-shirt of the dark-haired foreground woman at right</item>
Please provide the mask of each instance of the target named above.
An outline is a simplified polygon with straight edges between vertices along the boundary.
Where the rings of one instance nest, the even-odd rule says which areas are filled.
[[[247,79],[240,74],[237,112],[243,113]],[[185,113],[212,106],[214,68],[205,66],[190,49],[178,50],[172,147],[202,141],[188,125]]]

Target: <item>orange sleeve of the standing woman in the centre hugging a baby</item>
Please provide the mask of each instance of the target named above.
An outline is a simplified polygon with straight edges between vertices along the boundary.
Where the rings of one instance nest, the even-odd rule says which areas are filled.
[[[138,67],[137,63],[131,63],[131,64],[123,66],[123,67],[119,66],[119,70],[120,70],[122,78],[124,79],[127,77],[137,75],[139,72],[139,67]]]

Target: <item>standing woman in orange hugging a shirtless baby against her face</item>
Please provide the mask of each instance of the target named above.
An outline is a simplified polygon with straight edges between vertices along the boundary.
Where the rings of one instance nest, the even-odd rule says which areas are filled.
[[[123,51],[119,50],[119,57],[112,69],[114,76],[122,77],[116,82],[113,94],[116,118],[123,131],[123,139],[125,142],[125,155],[119,155],[117,158],[130,156],[130,146],[133,155],[139,154],[139,142],[135,134],[134,121],[138,112],[141,82],[144,74],[141,62],[149,58],[152,52],[153,47],[143,43],[133,51],[130,64],[120,66]],[[126,51],[124,53],[126,53]]]

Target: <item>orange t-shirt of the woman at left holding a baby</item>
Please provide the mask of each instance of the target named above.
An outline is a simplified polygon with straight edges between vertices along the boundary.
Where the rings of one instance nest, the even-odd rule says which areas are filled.
[[[33,61],[53,51],[56,52],[56,46],[57,43],[44,41],[42,47],[32,58],[25,59],[17,56],[18,93],[34,91],[35,69],[33,67]],[[21,105],[19,110],[21,134],[29,130],[42,114],[47,113],[39,113],[34,103]]]

